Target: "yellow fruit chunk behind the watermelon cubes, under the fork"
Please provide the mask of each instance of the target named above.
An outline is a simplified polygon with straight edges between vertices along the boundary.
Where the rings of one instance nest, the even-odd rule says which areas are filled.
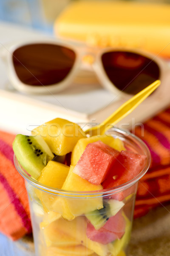
[[[113,138],[112,136],[109,135],[102,135],[102,136],[92,136],[92,137],[86,137],[86,138],[82,138],[79,139],[77,141],[77,144],[75,145],[73,152],[71,154],[71,165],[76,165],[79,158],[81,157],[83,151],[85,150],[86,146],[88,145],[88,143],[93,143],[96,142],[98,140],[101,140],[103,143],[109,145],[110,147],[121,151],[121,150],[125,150],[125,147],[123,145],[122,140],[118,139],[118,138]]]

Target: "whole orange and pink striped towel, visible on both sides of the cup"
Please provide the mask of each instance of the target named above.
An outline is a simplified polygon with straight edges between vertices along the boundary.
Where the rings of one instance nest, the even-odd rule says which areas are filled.
[[[134,218],[170,202],[170,108],[133,131],[149,147],[152,163],[139,181]],[[13,134],[0,131],[0,232],[13,240],[31,233],[28,197],[13,163]]]

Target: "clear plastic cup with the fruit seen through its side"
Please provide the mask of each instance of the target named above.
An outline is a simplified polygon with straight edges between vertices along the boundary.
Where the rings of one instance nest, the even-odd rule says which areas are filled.
[[[150,166],[150,152],[138,137],[113,128],[127,150],[144,154],[144,169],[120,186],[99,191],[65,191],[32,179],[14,157],[26,181],[36,256],[125,256],[136,191]],[[103,208],[102,208],[103,205]]]

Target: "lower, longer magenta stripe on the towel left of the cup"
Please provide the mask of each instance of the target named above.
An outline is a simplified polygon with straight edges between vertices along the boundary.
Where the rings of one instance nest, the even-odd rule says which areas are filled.
[[[2,174],[0,174],[0,182],[3,184],[4,189],[8,193],[10,202],[12,204],[14,204],[17,214],[22,219],[23,226],[26,228],[28,233],[31,233],[31,230],[32,230],[31,229],[31,221],[28,218],[28,215],[27,215],[25,209],[23,208],[23,205],[21,204],[20,200],[17,198],[17,195],[15,194],[15,192],[13,191],[11,186],[8,184],[8,181]]]

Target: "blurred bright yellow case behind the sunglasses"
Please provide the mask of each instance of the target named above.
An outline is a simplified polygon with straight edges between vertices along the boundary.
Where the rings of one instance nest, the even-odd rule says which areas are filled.
[[[170,56],[170,5],[75,1],[57,17],[54,32],[95,46],[138,47]]]

